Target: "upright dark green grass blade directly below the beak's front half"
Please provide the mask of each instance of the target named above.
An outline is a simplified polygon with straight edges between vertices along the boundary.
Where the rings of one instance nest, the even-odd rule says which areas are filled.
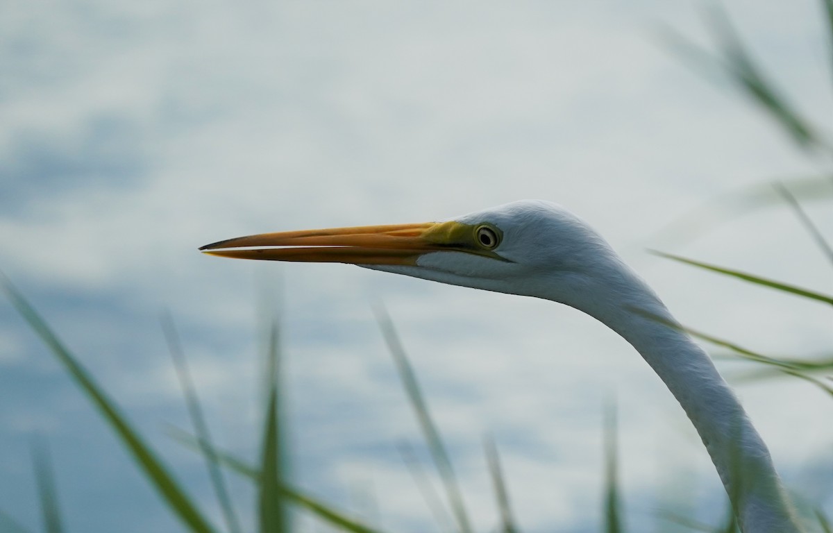
[[[278,331],[277,324],[272,322],[269,329],[269,343],[267,351],[267,410],[263,425],[261,451],[261,481],[257,495],[258,516],[261,533],[287,533],[286,506],[284,506],[281,486],[283,485],[283,449],[282,432],[278,421],[281,416],[278,411]]]

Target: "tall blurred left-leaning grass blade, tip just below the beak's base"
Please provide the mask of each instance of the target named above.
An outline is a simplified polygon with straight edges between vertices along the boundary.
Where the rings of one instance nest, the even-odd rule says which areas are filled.
[[[402,343],[399,341],[397,331],[393,327],[393,322],[387,311],[381,305],[376,306],[377,321],[379,328],[382,330],[382,336],[385,337],[388,351],[391,352],[393,361],[397,365],[399,377],[402,379],[402,386],[407,392],[408,400],[411,401],[414,412],[416,413],[416,420],[422,430],[423,436],[428,445],[428,450],[431,451],[431,458],[434,461],[436,470],[440,473],[443,485],[446,487],[446,495],[448,497],[449,506],[457,522],[457,527],[462,533],[471,533],[471,525],[466,513],[466,506],[463,503],[460,487],[457,484],[454,468],[451,466],[451,460],[448,458],[446,447],[443,446],[439,431],[436,430],[434,422],[431,420],[431,414],[428,412],[425,400],[422,398],[419,383],[416,381],[416,375],[408,362],[405,355],[405,349],[402,348]]]

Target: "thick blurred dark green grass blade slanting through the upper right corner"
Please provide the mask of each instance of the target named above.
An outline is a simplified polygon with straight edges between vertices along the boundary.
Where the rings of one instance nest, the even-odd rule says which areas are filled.
[[[746,52],[726,13],[719,8],[713,9],[709,25],[721,50],[722,65],[726,73],[746,96],[768,112],[799,147],[805,150],[826,148],[815,128],[799,116],[784,97],[781,97],[780,91],[763,75],[761,68]]]

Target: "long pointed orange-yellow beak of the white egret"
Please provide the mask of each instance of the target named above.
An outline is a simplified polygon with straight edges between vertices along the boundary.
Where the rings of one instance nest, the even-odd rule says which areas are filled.
[[[462,226],[457,222],[426,222],[262,233],[214,242],[200,250],[214,256],[267,261],[416,265],[416,259],[425,253],[468,252],[465,241],[469,239],[461,242],[456,238],[463,233]]]

